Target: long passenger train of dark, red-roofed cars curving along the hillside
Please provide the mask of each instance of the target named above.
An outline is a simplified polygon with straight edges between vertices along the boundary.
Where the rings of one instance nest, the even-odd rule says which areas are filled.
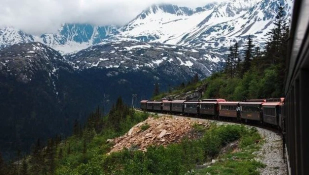
[[[243,101],[226,101],[223,98],[171,101],[141,100],[140,109],[200,118],[234,119],[243,122],[256,121],[282,128],[284,125],[284,118],[281,113],[283,104],[283,97]]]

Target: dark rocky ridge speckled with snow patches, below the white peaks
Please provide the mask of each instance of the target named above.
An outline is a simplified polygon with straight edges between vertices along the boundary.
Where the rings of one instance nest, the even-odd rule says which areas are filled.
[[[159,77],[185,79],[197,72],[201,78],[222,68],[224,59],[207,50],[145,42],[96,44],[65,59],[76,69],[115,69],[117,73],[141,72]],[[111,73],[111,74],[115,74]],[[170,79],[171,81],[173,81]]]

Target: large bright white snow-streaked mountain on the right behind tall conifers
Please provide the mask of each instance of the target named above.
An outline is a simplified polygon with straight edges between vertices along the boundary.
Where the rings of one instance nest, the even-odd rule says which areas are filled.
[[[251,35],[261,46],[280,4],[289,14],[292,0],[229,0],[196,9],[152,5],[104,41],[151,41],[222,52]]]

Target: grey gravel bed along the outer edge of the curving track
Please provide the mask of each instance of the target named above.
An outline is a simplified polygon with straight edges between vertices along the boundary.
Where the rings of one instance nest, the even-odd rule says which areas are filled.
[[[161,114],[158,115],[169,115],[169,114]],[[179,115],[172,115],[172,117],[186,117]],[[186,117],[187,118],[187,117]],[[213,121],[218,125],[222,124],[239,124],[228,121],[217,121],[212,119],[201,119],[201,118],[192,118],[193,120],[209,120]],[[256,127],[256,126],[252,126]],[[263,139],[263,144],[259,151],[253,152],[257,155],[256,160],[264,163],[266,167],[259,169],[260,174],[262,175],[285,175],[286,171],[286,163],[283,162],[283,152],[282,152],[282,137],[279,133],[268,130],[265,128],[256,127],[259,134]]]

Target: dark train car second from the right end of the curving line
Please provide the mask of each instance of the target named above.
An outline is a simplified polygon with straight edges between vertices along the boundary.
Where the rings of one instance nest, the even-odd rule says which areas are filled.
[[[262,104],[265,99],[251,99],[245,102],[239,102],[240,118],[249,120],[262,121]]]

